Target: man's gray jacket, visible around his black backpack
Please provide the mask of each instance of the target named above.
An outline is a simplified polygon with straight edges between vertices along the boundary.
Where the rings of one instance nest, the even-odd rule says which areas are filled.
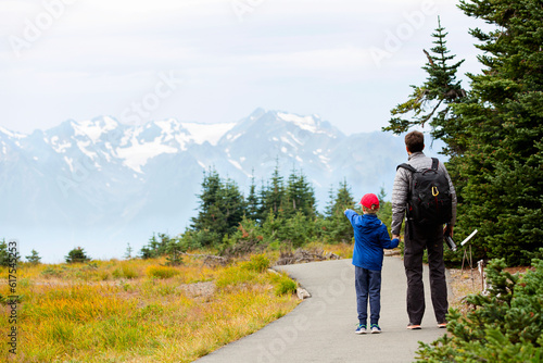
[[[415,167],[417,171],[430,168],[432,159],[424,154],[424,152],[414,152],[409,155],[407,164]],[[449,176],[445,165],[440,161],[438,170],[445,173],[449,180],[449,186],[453,196],[453,217],[449,225],[454,226],[456,223],[456,191],[454,190],[453,182]],[[392,225],[390,227],[392,235],[400,235],[402,222],[404,220],[405,208],[407,206],[407,197],[411,190],[412,172],[404,167],[399,167],[394,177],[394,186],[392,187]]]

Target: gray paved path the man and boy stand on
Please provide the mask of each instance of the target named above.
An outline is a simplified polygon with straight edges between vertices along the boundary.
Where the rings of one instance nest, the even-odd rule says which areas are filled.
[[[381,334],[356,335],[356,296],[351,260],[279,266],[311,293],[290,314],[198,360],[212,362],[413,362],[418,341],[431,342],[437,327],[425,266],[426,314],[422,329],[407,330],[403,261],[384,258]]]

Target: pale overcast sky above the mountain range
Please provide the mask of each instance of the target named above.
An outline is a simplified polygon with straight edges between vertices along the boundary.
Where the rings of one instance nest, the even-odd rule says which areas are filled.
[[[378,130],[424,82],[438,15],[460,73],[479,72],[468,29],[484,24],[456,3],[1,0],[0,126],[224,123],[262,107]]]

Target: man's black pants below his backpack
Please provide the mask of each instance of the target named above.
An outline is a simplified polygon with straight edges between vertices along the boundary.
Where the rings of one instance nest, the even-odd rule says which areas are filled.
[[[409,323],[419,325],[425,314],[422,285],[422,255],[428,250],[430,290],[438,323],[446,322],[445,264],[443,262],[443,226],[420,226],[408,222],[405,226],[404,266],[407,276],[407,314]]]

